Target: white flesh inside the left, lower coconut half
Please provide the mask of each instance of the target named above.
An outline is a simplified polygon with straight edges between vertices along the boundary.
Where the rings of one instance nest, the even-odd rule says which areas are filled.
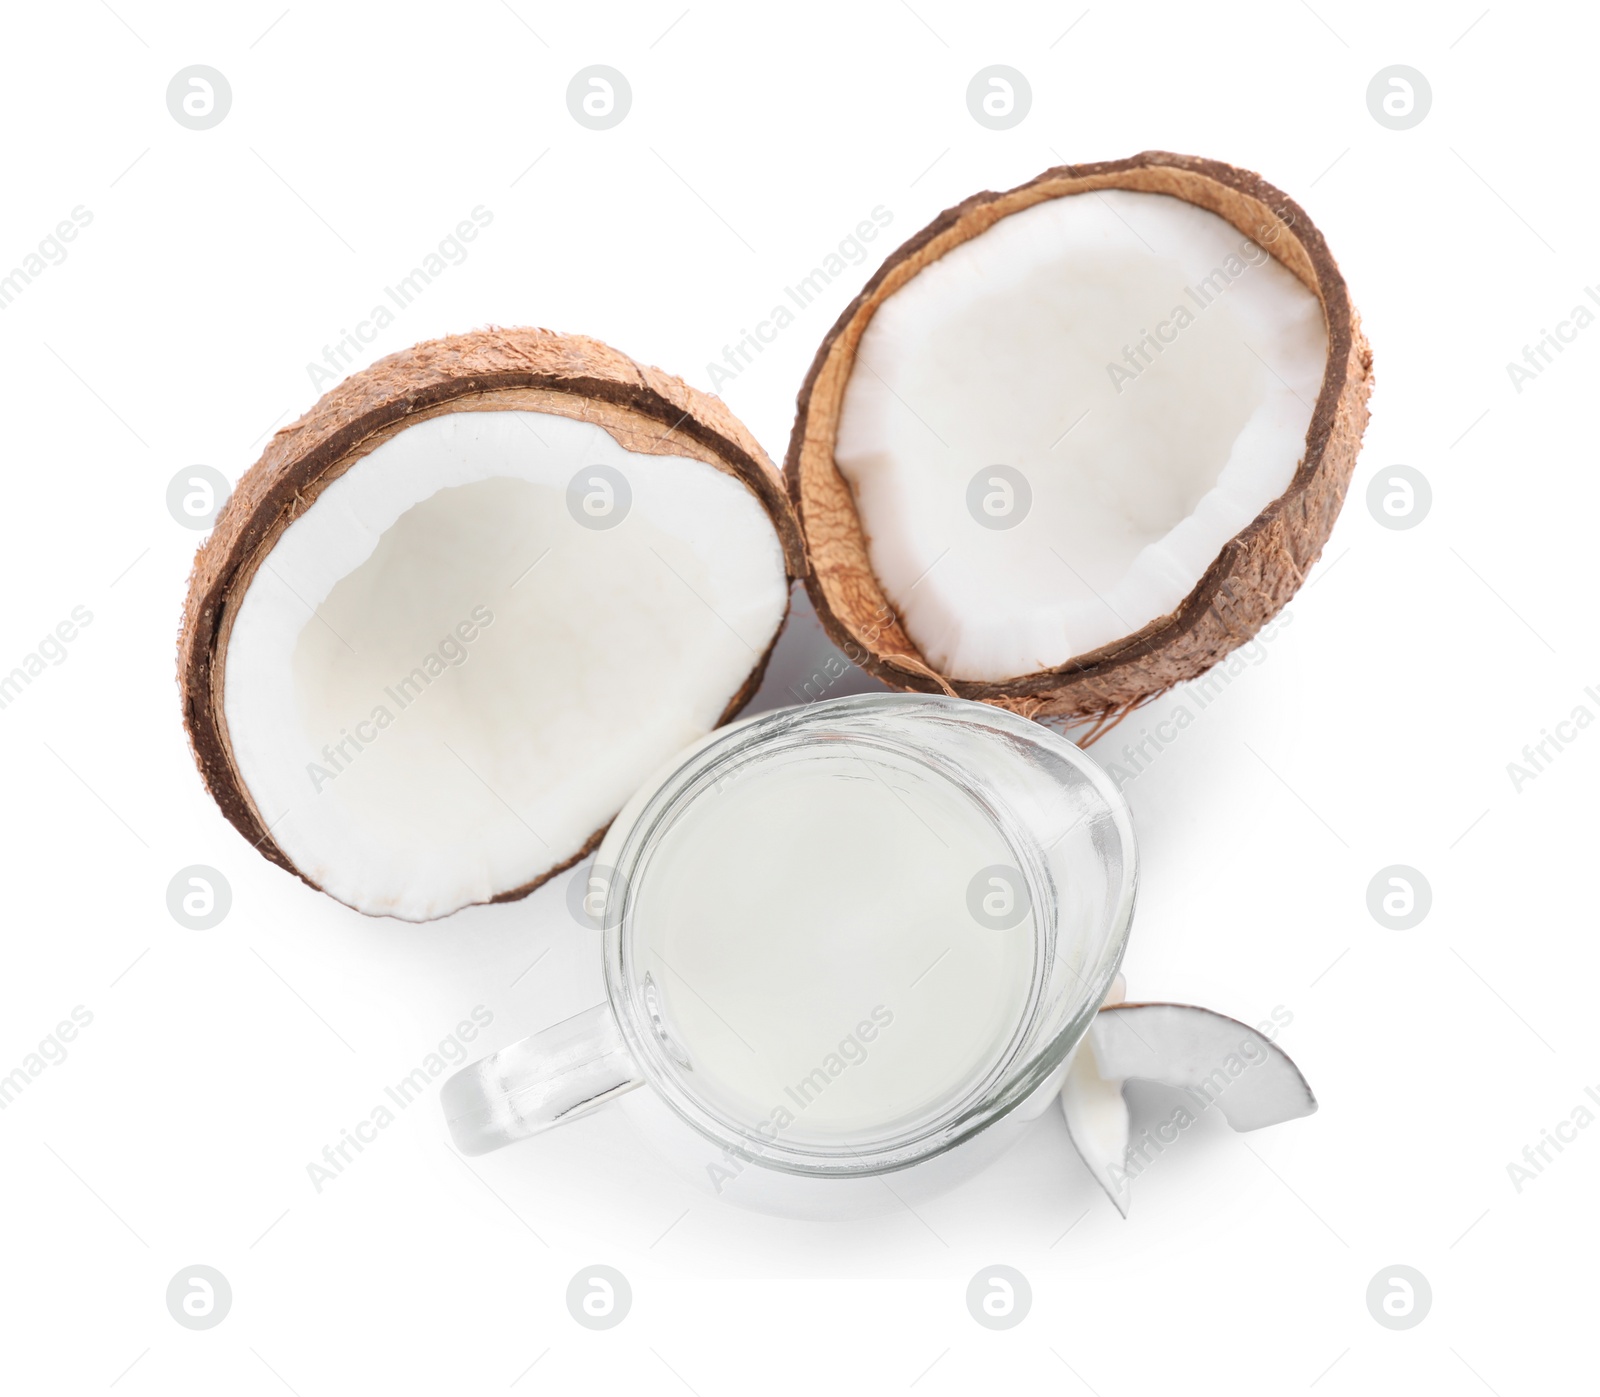
[[[610,528],[568,506],[621,472]],[[619,510],[582,477],[574,507]],[[741,690],[787,605],[762,504],[547,413],[379,445],[291,523],[227,643],[234,760],[272,839],[362,912],[445,915],[578,855]]]

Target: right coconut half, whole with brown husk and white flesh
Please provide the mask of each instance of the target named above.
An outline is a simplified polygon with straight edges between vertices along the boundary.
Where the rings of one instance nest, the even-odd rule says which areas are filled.
[[[941,214],[822,342],[786,477],[806,587],[899,688],[1126,711],[1317,560],[1371,357],[1306,213],[1144,154]]]

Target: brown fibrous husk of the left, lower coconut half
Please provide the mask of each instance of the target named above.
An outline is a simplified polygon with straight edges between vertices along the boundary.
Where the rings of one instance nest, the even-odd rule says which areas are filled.
[[[195,557],[178,635],[184,730],[206,789],[250,843],[310,887],[317,885],[274,842],[234,760],[222,693],[237,603],[283,530],[379,443],[442,413],[515,408],[594,422],[629,451],[690,456],[742,480],[778,530],[789,578],[805,571],[782,477],[738,418],[720,400],[597,339],[549,330],[477,330],[403,349],[352,374],[280,430],[240,477]],[[733,719],[760,688],[770,656],[771,646],[718,723]],[[571,859],[493,901],[526,896],[589,855],[603,834],[595,831]]]

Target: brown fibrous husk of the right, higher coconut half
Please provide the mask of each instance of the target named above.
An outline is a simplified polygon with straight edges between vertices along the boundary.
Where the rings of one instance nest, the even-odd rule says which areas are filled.
[[[1322,302],[1328,365],[1290,488],[1235,534],[1166,616],[1056,669],[998,682],[939,674],[917,650],[867,557],[834,442],[861,336],[877,309],[920,270],[998,219],[1046,198],[1096,189],[1168,194],[1210,210],[1264,246]],[[1088,725],[1098,736],[1134,706],[1203,674],[1250,640],[1294,595],[1322,554],[1355,469],[1373,358],[1344,277],[1306,211],[1259,174],[1214,160],[1147,150],[1130,160],[1062,165],[1003,194],[941,213],[878,267],[818,349],[789,440],[784,477],[811,570],[806,590],[829,637],[894,688],[950,693],[1029,719]]]

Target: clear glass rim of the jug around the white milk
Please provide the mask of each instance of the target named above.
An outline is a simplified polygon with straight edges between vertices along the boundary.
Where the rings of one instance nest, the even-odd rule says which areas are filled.
[[[971,722],[1010,731],[1021,739],[1051,749],[1088,779],[1104,802],[1106,815],[1110,818],[1122,847],[1122,879],[1107,914],[1106,944],[1096,963],[1082,976],[1085,989],[1072,1016],[1021,1063],[1008,1064],[998,1083],[981,1093],[978,1101],[965,1109],[912,1128],[902,1136],[874,1141],[859,1151],[838,1144],[784,1141],[781,1135],[774,1138],[742,1122],[731,1120],[699,1099],[682,1080],[680,1069],[670,1061],[664,1045],[637,1021],[635,1005],[642,1000],[642,983],[635,978],[629,935],[634,875],[656,840],[670,826],[675,813],[693,800],[698,791],[715,781],[718,771],[747,759],[752,751],[771,746],[774,739],[782,739],[795,728],[822,725],[840,717],[874,712],[906,717],[918,711],[938,714],[946,720]],[[936,754],[930,755],[926,749],[918,749],[901,735],[874,735],[874,741],[902,749],[907,755],[930,767],[944,765]],[[960,781],[978,799],[987,799],[971,773],[946,768],[946,775]],[[1128,944],[1138,891],[1138,847],[1126,799],[1104,768],[1074,743],[1040,723],[989,704],[939,694],[888,693],[853,694],[760,714],[712,733],[696,747],[682,754],[678,765],[637,811],[624,810],[619,823],[624,819],[629,823],[622,831],[622,845],[611,859],[613,887],[622,891],[622,907],[616,909],[614,915],[606,917],[603,957],[606,992],[622,1039],[646,1085],[675,1115],[718,1149],[765,1168],[821,1178],[890,1173],[934,1159],[994,1125],[1032,1096],[1066,1063],[1099,1011]]]

